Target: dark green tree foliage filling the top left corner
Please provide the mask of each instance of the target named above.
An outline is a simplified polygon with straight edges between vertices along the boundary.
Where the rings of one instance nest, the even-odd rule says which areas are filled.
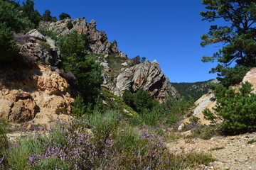
[[[33,28],[33,23],[21,15],[18,8],[8,1],[0,1],[0,21],[16,33],[26,32]]]

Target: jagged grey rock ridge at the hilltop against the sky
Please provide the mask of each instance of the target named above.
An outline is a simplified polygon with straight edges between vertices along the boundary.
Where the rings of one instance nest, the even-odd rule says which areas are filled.
[[[55,23],[50,23],[48,30],[56,32],[59,35],[65,35],[73,30],[77,30],[79,34],[87,35],[89,47],[93,53],[105,55],[114,54],[118,57],[127,57],[127,55],[124,55],[118,50],[116,41],[108,41],[106,33],[96,29],[95,20],[86,23],[85,18],[77,18],[74,20],[67,18]]]

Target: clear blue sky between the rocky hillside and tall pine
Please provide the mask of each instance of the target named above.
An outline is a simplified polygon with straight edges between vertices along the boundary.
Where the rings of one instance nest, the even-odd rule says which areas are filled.
[[[35,8],[51,16],[65,12],[72,18],[95,19],[97,30],[104,30],[110,41],[117,40],[119,50],[129,58],[139,55],[157,60],[171,82],[215,79],[209,70],[215,63],[203,63],[203,55],[218,51],[217,45],[201,47],[201,35],[208,33],[206,11],[201,0],[35,0]]]

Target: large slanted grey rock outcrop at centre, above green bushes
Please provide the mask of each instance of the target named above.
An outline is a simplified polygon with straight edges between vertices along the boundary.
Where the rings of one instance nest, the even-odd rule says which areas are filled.
[[[108,82],[106,79],[110,79],[110,77],[107,77],[107,73],[104,77],[105,82]],[[134,67],[127,68],[117,76],[115,84],[103,84],[103,86],[117,96],[122,96],[125,90],[136,92],[139,89],[144,89],[160,102],[163,102],[169,94],[178,98],[178,92],[171,86],[169,79],[165,77],[156,60],[153,62],[146,60]]]

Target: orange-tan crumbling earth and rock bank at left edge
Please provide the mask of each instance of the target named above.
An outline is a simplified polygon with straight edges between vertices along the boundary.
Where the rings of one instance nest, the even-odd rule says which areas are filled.
[[[23,80],[9,79],[16,71],[0,71],[0,117],[11,123],[34,120],[47,124],[55,118],[68,118],[73,98],[68,82],[50,66],[38,64],[22,72]]]

